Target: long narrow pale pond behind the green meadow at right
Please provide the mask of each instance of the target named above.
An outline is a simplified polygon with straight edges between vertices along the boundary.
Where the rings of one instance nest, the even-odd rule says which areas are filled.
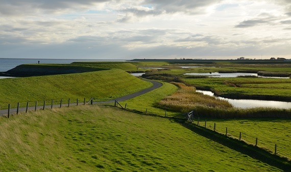
[[[256,73],[185,73],[184,75],[198,75],[198,76],[209,76],[209,77],[216,77],[216,78],[235,78],[237,76],[258,76]],[[262,78],[282,78],[282,79],[289,79],[289,77],[264,77],[258,76]]]

